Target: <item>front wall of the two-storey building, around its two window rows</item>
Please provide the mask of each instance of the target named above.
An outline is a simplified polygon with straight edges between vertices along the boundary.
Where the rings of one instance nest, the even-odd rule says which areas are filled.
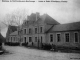
[[[33,46],[37,47],[38,46],[38,39],[37,42],[35,42],[35,37],[39,37],[39,46],[41,45],[41,36],[42,36],[42,43],[45,42],[45,34],[44,34],[44,30],[45,30],[45,24],[42,21],[38,21],[39,23],[33,23],[33,24],[29,24],[26,26],[23,26],[22,30],[23,30],[23,42],[24,42],[24,37],[26,37],[26,43],[28,42],[28,46],[32,46],[32,42],[33,42]],[[42,33],[40,33],[40,27],[42,27]],[[32,33],[29,34],[29,28],[32,29]],[[37,28],[37,33],[35,33],[35,28]],[[26,34],[24,34],[24,29],[26,29]],[[29,42],[29,37],[32,37],[32,42]]]

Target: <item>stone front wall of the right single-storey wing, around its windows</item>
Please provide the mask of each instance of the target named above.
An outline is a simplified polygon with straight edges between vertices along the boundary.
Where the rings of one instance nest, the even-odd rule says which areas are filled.
[[[70,42],[65,42],[65,33],[69,32],[70,33]],[[49,44],[55,44],[58,46],[68,46],[68,47],[80,47],[80,31],[67,31],[67,32],[52,32],[52,33],[48,33],[46,35],[46,43]],[[74,33],[78,32],[79,33],[79,42],[75,43],[74,42]],[[56,34],[60,33],[61,34],[61,42],[57,42],[57,36]],[[53,34],[53,42],[50,42],[50,34]]]

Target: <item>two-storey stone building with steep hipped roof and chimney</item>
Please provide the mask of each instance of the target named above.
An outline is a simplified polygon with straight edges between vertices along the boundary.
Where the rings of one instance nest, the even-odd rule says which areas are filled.
[[[46,43],[46,31],[57,24],[59,23],[47,14],[31,14],[22,25],[22,42],[28,46],[41,47]]]

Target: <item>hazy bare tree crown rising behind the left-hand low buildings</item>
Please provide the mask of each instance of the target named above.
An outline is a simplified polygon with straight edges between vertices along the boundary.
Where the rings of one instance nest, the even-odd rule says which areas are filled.
[[[28,11],[23,10],[15,10],[10,14],[6,14],[6,17],[2,21],[2,23],[6,26],[16,25],[20,26],[25,19],[27,19]]]

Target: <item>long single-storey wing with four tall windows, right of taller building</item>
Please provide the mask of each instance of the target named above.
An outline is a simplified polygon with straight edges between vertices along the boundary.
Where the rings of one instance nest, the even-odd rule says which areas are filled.
[[[55,25],[47,31],[47,43],[80,48],[80,22]]]

